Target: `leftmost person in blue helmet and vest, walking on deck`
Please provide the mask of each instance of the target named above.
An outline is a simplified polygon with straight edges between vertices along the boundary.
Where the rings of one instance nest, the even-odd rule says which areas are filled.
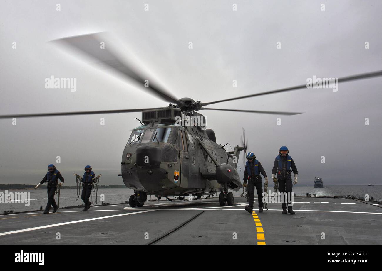
[[[58,184],[58,179],[61,181],[60,184]],[[48,186],[48,204],[45,208],[44,213],[49,213],[50,206],[53,206],[53,213],[57,211],[57,204],[54,200],[54,194],[56,192],[57,186],[62,186],[64,183],[64,178],[61,175],[61,173],[57,170],[55,165],[50,164],[48,166],[48,172],[45,175],[45,177],[40,181],[39,184],[36,185],[34,189],[37,189],[41,184],[47,182]]]

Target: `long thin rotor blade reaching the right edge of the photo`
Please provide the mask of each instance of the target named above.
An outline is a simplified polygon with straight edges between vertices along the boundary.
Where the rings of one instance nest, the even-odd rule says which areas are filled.
[[[377,76],[382,76],[382,71],[368,72],[368,73],[365,73],[365,74],[356,74],[356,75],[351,75],[351,76],[348,76],[348,77],[338,78],[338,83],[347,82],[347,81],[353,81],[353,80],[359,80],[359,79],[365,79],[365,78],[371,78],[371,77],[377,77]],[[299,86],[296,86],[296,87],[280,88],[278,90],[270,90],[270,91],[265,91],[265,92],[261,92],[261,93],[251,94],[251,95],[245,95],[245,96],[240,96],[240,97],[235,97],[235,98],[230,98],[230,99],[224,99],[224,100],[220,100],[220,101],[214,101],[214,102],[209,102],[209,103],[202,103],[202,106],[206,106],[208,104],[222,103],[222,102],[233,101],[233,100],[238,100],[238,99],[256,97],[256,96],[280,93],[280,92],[291,91],[291,90],[299,90],[299,89],[302,89],[302,88],[307,88],[306,85],[307,84],[299,85]]]

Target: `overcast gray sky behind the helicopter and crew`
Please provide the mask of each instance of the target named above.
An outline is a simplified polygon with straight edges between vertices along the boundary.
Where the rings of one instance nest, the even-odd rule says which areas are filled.
[[[313,76],[382,69],[379,0],[57,2],[0,3],[0,114],[167,106],[49,43],[102,31],[115,37],[112,45],[121,55],[136,59],[177,98],[202,102],[301,85]],[[76,91],[45,88],[52,75],[76,78]],[[337,92],[304,89],[210,106],[304,112],[294,116],[199,112],[219,144],[240,144],[244,127],[249,151],[269,176],[285,145],[299,184],[312,185],[317,175],[326,185],[382,184],[381,83],[379,77],[341,83]],[[0,120],[0,183],[37,184],[47,165],[55,164],[65,183],[74,185],[73,173],[82,174],[89,164],[102,173],[102,184],[123,184],[119,163],[130,130],[139,124],[136,117],[141,113],[17,119],[17,125]]]

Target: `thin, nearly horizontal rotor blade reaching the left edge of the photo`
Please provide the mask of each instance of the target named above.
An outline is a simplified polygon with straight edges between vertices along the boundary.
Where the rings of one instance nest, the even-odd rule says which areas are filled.
[[[0,115],[0,119],[31,118],[31,117],[54,117],[54,116],[66,116],[66,115],[92,115],[92,114],[110,114],[110,113],[129,113],[129,112],[141,112],[142,110],[153,110],[153,109],[161,109],[161,108],[165,108],[165,107],[137,108],[137,109],[120,109],[120,110],[100,110],[100,111],[79,111],[79,112],[58,112],[58,113]]]

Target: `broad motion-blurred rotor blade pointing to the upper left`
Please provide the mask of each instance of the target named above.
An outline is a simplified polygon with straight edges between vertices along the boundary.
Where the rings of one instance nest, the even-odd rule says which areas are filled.
[[[104,64],[105,66],[108,66],[113,70],[118,71],[124,77],[133,79],[135,82],[138,82],[139,84],[143,85],[145,83],[145,80],[149,79],[149,76],[144,76],[132,65],[123,63],[120,57],[118,57],[115,53],[108,49],[108,46],[101,49],[100,44],[102,44],[101,42],[105,42],[105,40],[106,39],[102,37],[100,33],[94,33],[60,38],[58,40],[53,40],[53,42],[70,45],[71,47],[78,49],[85,55],[97,59],[98,61],[100,61],[101,64]],[[155,83],[151,80],[149,80],[148,87],[145,88],[164,101],[178,103],[178,99],[176,99],[171,93],[167,92],[166,90],[163,90],[158,85],[155,85]]]

